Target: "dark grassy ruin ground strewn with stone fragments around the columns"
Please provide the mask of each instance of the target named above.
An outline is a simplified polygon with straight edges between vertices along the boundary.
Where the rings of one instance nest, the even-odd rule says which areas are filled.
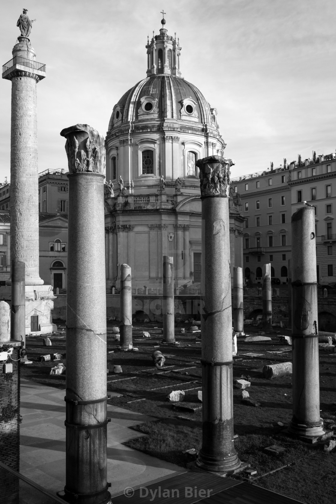
[[[135,438],[125,440],[124,444],[185,467],[194,456],[182,451],[191,448],[197,451],[201,444],[201,402],[197,398],[201,390],[199,333],[190,331],[191,324],[177,325],[175,339],[180,345],[162,345],[162,325],[139,322],[133,325],[133,346],[138,351],[123,352],[117,348],[119,342],[112,332],[114,325],[117,323],[109,323],[107,335],[107,351],[111,352],[107,354],[107,393],[111,394],[108,402],[114,407],[152,417],[139,426],[132,425]],[[186,334],[181,334],[182,327]],[[149,331],[151,338],[144,338],[143,331]],[[247,343],[244,338],[238,338],[233,375],[234,379],[243,377],[251,383],[247,389],[251,402],[244,403],[234,394],[234,430],[238,435],[235,446],[240,459],[257,470],[256,476],[287,466],[254,480],[254,484],[309,504],[333,504],[336,449],[327,452],[324,450],[327,442],[311,445],[281,435],[292,416],[292,376],[267,380],[262,375],[265,364],[291,361],[291,346],[279,343],[279,334],[290,335],[290,332],[279,328],[277,331],[278,334],[276,331],[265,334],[272,338],[271,341]],[[256,327],[245,327],[246,334],[258,332]],[[49,374],[55,363],[41,363],[37,359],[51,352],[65,355],[65,326],[60,325],[59,333],[51,335],[50,339],[52,347],[45,347],[41,336],[27,337],[28,357],[33,364],[22,366],[21,376],[63,389],[65,375]],[[166,358],[159,369],[152,360],[153,351],[158,349]],[[61,362],[66,366],[66,357],[62,357]],[[321,417],[336,431],[336,353],[320,350],[319,363]],[[114,365],[121,365],[121,374],[113,373]],[[173,390],[185,391],[183,402],[173,405],[167,400],[168,393]],[[238,389],[235,390],[238,393]],[[279,455],[264,451],[272,445],[283,447],[285,451]],[[246,475],[236,477],[241,479]]]

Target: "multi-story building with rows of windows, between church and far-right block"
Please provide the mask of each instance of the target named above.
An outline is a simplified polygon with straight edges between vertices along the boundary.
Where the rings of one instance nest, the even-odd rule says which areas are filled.
[[[241,195],[245,218],[243,271],[252,283],[262,283],[262,265],[271,263],[271,276],[288,281],[291,258],[291,188],[288,169],[280,166],[232,180]]]

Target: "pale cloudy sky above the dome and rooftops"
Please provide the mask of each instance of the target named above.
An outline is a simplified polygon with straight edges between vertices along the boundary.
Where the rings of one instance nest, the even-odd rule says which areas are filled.
[[[22,2],[2,5],[2,65]],[[30,41],[46,64],[37,85],[39,171],[67,168],[59,132],[106,135],[114,104],[146,77],[147,35],[166,13],[182,77],[218,110],[238,176],[336,150],[334,0],[30,0]],[[0,182],[10,178],[11,84],[0,82]]]

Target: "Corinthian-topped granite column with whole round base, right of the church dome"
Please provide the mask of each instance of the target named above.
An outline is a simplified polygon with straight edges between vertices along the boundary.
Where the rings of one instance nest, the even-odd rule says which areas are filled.
[[[202,202],[203,440],[196,466],[221,475],[241,468],[233,442],[229,170],[219,156],[197,161]]]

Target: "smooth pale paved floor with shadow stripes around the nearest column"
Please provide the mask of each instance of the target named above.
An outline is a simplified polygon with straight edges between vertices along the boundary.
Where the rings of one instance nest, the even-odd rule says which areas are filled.
[[[65,485],[64,395],[65,390],[21,380],[20,472],[51,493]],[[107,424],[107,480],[112,483],[112,494],[183,470],[122,445],[143,435],[128,427],[151,417],[111,405],[107,405],[107,416],[111,418]]]

